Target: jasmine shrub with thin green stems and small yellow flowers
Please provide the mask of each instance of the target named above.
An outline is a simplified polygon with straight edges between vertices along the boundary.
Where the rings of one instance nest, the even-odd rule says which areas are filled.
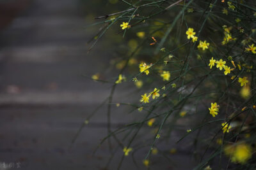
[[[89,50],[110,29],[122,38],[113,47],[118,57],[109,61],[116,77],[97,71],[92,75],[92,80],[112,87],[100,105],[108,106],[108,136],[101,143],[112,139],[119,144],[116,152],[123,156],[116,167],[140,148],[148,152],[134,161],[145,167],[152,166],[152,155],[170,158],[179,150],[160,150],[158,145],[170,142],[172,132],[178,131],[175,143],[190,141],[187,145],[197,162],[191,169],[255,169],[256,2],[109,0],[110,4],[117,12],[95,18],[93,25],[102,27]],[[127,85],[135,89],[136,102],[113,102],[116,88]],[[111,108],[124,105],[131,109],[129,114],[143,118],[111,129]],[[135,145],[140,131],[153,135]]]

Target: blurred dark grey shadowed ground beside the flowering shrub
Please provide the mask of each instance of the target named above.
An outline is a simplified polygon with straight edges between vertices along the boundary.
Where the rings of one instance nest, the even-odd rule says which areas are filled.
[[[110,156],[107,143],[95,155],[92,152],[107,134],[106,106],[84,127],[72,148],[70,143],[84,119],[109,95],[110,85],[82,76],[108,67],[107,40],[87,54],[86,41],[92,35],[83,29],[87,21],[77,0],[11,3],[0,4],[11,10],[1,16],[5,22],[0,32],[0,168],[8,169],[4,162],[15,163],[10,169],[17,169],[16,163],[31,170],[103,169]],[[11,7],[3,7],[6,4]],[[113,110],[113,128],[132,119],[124,112]],[[121,169],[146,169],[141,164],[146,154],[141,150],[135,156],[138,167],[131,157],[125,158]],[[122,155],[118,150],[108,169],[116,169]],[[193,167],[186,145],[169,155],[176,163],[154,157],[152,169]]]

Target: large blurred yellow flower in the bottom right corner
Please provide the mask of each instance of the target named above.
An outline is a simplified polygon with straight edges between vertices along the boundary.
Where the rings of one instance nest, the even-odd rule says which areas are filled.
[[[247,160],[252,157],[252,148],[247,144],[237,145],[234,153],[232,154],[232,162],[238,162],[240,164],[245,164]]]

